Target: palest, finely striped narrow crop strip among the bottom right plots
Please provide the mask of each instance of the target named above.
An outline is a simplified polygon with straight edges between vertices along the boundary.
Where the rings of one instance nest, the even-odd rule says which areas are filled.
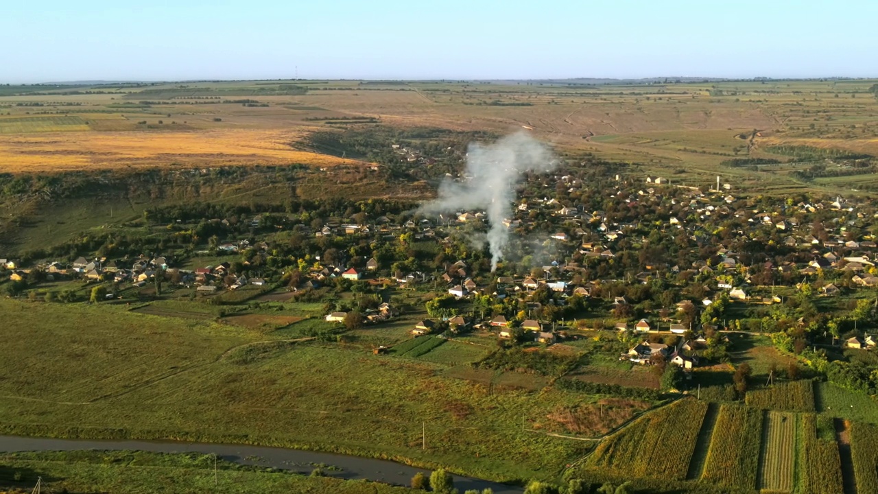
[[[763,431],[759,489],[792,492],[795,476],[795,415],[770,411]]]

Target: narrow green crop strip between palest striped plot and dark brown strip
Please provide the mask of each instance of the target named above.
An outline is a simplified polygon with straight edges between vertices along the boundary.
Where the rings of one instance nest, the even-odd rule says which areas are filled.
[[[800,479],[802,492],[810,494],[844,492],[838,443],[831,437],[818,437],[816,416],[806,413],[800,415],[799,420],[801,434],[799,471],[802,472]]]

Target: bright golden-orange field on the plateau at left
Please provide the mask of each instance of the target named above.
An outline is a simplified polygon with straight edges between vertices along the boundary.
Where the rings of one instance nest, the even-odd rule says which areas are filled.
[[[81,132],[0,134],[4,170],[96,170],[120,167],[201,167],[232,164],[313,166],[356,160],[292,149],[301,133],[230,130],[199,132]]]

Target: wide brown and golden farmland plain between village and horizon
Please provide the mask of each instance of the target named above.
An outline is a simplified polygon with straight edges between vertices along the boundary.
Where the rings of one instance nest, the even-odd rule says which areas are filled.
[[[183,89],[178,84],[76,88],[93,94],[20,87],[0,94],[5,113],[0,160],[11,171],[323,167],[356,162],[301,150],[317,130],[386,126],[507,133],[528,127],[565,153],[640,163],[637,171],[677,184],[707,185],[718,174],[736,189],[852,192],[873,189],[878,174],[805,182],[793,172],[810,163],[778,149],[878,155],[878,124],[872,118],[878,102],[868,92],[874,83],[241,81],[187,83]],[[35,110],[39,114],[32,114]],[[790,163],[730,166],[736,158]]]

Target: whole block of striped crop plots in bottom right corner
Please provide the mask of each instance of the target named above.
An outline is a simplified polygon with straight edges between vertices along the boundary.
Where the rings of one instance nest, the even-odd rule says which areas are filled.
[[[858,494],[878,494],[878,425],[846,421],[841,427],[838,419],[813,412],[811,381],[759,390],[747,395],[747,404],[684,398],[602,441],[583,469],[669,485],[688,476],[702,481],[694,485],[730,491],[841,494],[855,483]],[[708,414],[709,406],[718,413]],[[702,445],[697,451],[696,444]],[[845,465],[853,468],[843,470],[848,458]]]

